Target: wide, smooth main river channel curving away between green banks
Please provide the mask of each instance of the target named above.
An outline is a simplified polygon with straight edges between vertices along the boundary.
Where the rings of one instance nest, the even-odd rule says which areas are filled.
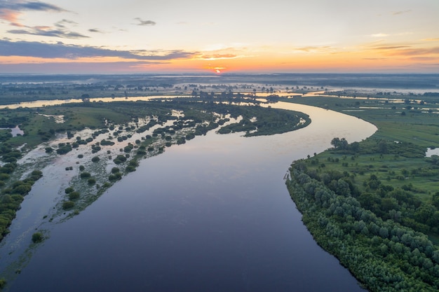
[[[311,106],[271,106],[312,123],[265,137],[209,132],[143,160],[56,224],[9,291],[364,291],[314,242],[283,177],[332,138],[360,141],[377,128]],[[18,216],[44,196],[39,183]]]

